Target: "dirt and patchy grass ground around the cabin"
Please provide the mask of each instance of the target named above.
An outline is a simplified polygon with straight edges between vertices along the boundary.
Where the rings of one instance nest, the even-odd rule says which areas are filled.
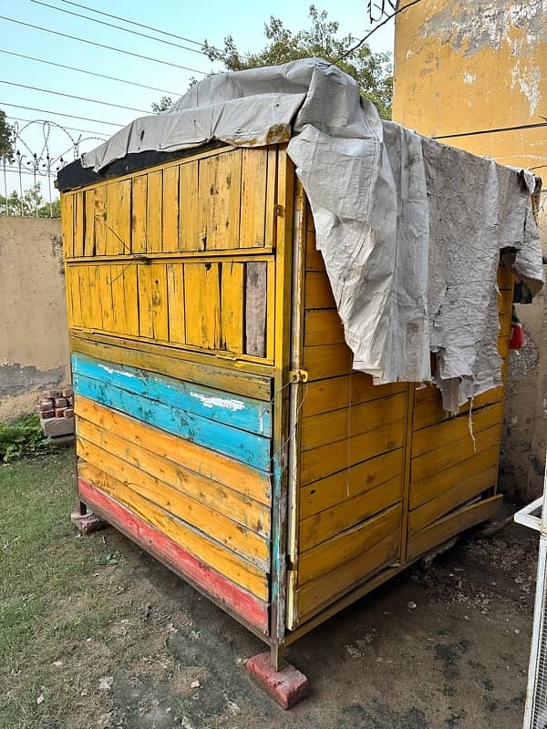
[[[284,712],[244,667],[263,644],[114,529],[77,537],[68,457],[48,468],[0,469],[0,504],[12,494],[5,514],[20,504],[27,522],[36,499],[50,498],[38,512],[43,543],[32,551],[36,529],[26,537],[19,521],[0,544],[13,570],[4,633],[0,600],[1,729],[521,726],[538,549],[530,530],[460,541],[294,643],[287,658],[311,694]],[[26,493],[36,474],[40,490]]]

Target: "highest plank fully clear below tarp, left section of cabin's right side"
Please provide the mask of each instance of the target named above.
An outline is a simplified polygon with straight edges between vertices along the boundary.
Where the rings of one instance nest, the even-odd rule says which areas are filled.
[[[402,421],[407,415],[407,394],[389,395],[317,416],[304,417],[301,447],[309,450],[337,440],[358,436],[387,423]]]

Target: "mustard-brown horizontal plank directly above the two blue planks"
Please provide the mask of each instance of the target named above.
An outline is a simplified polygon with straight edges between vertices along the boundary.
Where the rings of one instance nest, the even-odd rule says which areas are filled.
[[[95,335],[92,339],[80,336],[70,337],[73,352],[88,354],[97,359],[129,364],[159,375],[170,375],[181,380],[201,385],[209,385],[224,392],[245,395],[258,400],[272,397],[272,378],[253,372],[253,364],[245,364],[245,369],[235,370],[229,360],[220,357],[202,356],[195,359],[191,355],[173,347],[160,344],[144,344],[132,340],[116,340]],[[260,367],[263,369],[263,367]]]

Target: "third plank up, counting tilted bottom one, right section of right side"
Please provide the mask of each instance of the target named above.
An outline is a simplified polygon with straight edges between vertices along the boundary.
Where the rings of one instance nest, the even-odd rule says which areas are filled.
[[[410,508],[418,508],[420,504],[426,503],[431,498],[438,497],[439,494],[448,491],[466,478],[476,476],[497,466],[499,457],[500,449],[496,443],[494,446],[478,453],[471,453],[470,456],[460,455],[456,458],[456,463],[453,466],[442,470],[434,469],[426,478],[411,480]]]

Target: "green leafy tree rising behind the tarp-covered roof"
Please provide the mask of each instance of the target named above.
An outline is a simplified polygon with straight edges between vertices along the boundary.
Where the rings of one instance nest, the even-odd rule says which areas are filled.
[[[230,71],[244,68],[275,66],[298,58],[323,58],[354,77],[361,94],[373,101],[382,118],[391,118],[393,97],[393,70],[390,53],[373,53],[364,43],[348,54],[356,45],[354,36],[339,37],[339,24],[329,20],[325,10],[318,11],[315,5],[309,8],[310,26],[296,33],[286,28],[280,18],[271,15],[264,25],[267,43],[258,53],[242,54],[232,36],[224,39],[224,47],[216,49],[205,40],[203,50],[212,61],[222,61]]]

